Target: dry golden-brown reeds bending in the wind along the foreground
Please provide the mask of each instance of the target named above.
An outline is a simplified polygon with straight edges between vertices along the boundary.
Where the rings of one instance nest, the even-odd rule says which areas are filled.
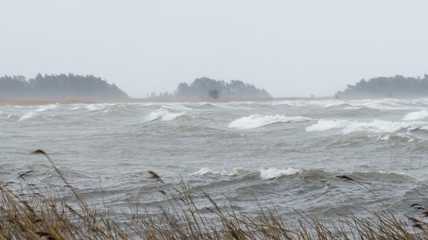
[[[257,213],[245,212],[233,202],[220,207],[208,194],[210,207],[197,207],[190,187],[182,184],[173,193],[160,189],[170,201],[169,209],[148,215],[140,207],[128,222],[118,222],[106,209],[91,208],[44,151],[34,153],[46,155],[75,199],[67,202],[58,193],[41,191],[26,182],[26,173],[19,175],[19,192],[0,182],[0,239],[428,239],[427,223],[414,217],[398,220],[374,192],[347,176],[338,178],[361,184],[382,202],[383,211],[333,223],[296,211],[301,219],[290,221],[258,204]],[[156,172],[148,176],[163,182]],[[422,205],[412,207],[428,215]]]

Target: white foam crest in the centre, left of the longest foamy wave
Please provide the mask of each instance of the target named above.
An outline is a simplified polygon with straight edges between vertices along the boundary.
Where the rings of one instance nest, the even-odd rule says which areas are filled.
[[[287,117],[285,115],[259,115],[253,114],[247,117],[239,118],[230,122],[230,128],[251,129],[256,127],[263,127],[279,122],[304,122],[311,120],[302,116]]]

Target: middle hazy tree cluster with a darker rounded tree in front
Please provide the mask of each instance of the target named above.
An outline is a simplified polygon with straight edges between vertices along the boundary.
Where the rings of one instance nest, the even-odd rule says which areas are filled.
[[[264,89],[255,88],[253,84],[240,80],[214,80],[196,78],[192,83],[178,84],[175,96],[185,98],[270,98]]]

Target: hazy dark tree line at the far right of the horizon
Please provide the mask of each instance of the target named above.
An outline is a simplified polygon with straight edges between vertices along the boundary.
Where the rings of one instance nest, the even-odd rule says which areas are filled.
[[[424,78],[394,77],[362,79],[336,93],[336,98],[417,98],[428,96],[428,75]]]

